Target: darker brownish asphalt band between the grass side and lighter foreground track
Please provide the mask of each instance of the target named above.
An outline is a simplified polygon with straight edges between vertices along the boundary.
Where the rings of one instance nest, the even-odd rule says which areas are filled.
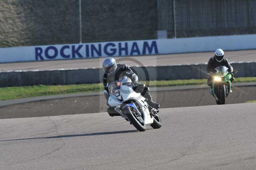
[[[153,100],[159,103],[161,108],[216,104],[214,97],[209,93],[209,88],[159,90],[153,91],[151,94]],[[226,99],[226,104],[256,100],[254,94],[256,94],[256,86],[234,87],[233,93],[229,94]],[[107,108],[106,99],[103,95],[71,96],[3,106],[0,107],[0,119],[98,113],[107,112]]]

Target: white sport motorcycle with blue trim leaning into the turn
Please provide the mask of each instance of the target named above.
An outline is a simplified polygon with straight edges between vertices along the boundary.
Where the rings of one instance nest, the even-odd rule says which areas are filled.
[[[139,131],[145,131],[146,125],[161,128],[159,110],[150,107],[147,99],[133,90],[132,81],[124,76],[108,85],[110,97],[108,104]]]

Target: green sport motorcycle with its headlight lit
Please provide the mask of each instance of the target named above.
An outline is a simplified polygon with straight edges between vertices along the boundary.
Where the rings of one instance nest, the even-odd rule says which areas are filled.
[[[216,73],[208,73],[209,76],[212,76],[212,95],[216,99],[217,104],[225,104],[226,97],[231,91],[232,83],[232,74],[236,74],[237,71],[228,72],[228,68],[225,66],[219,66],[215,68]]]

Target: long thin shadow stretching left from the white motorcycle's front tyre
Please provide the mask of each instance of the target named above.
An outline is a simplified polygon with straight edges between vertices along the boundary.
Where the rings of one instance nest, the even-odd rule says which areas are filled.
[[[4,142],[4,141],[20,141],[20,140],[29,140],[29,139],[52,139],[52,138],[63,138],[63,137],[77,137],[77,136],[112,135],[112,134],[132,133],[132,132],[139,132],[139,131],[138,130],[123,130],[123,131],[114,131],[114,132],[99,132],[99,133],[76,134],[76,135],[58,135],[58,136],[48,136],[48,137],[10,139],[10,140],[2,140],[0,142]]]

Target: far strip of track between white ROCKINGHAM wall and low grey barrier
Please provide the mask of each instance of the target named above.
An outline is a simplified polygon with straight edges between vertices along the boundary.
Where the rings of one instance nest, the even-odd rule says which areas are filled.
[[[214,55],[214,52],[185,53],[185,54],[167,54],[167,55],[149,55],[129,57],[140,61],[144,66],[163,66],[177,64],[197,64],[206,63]],[[256,50],[226,51],[225,57],[229,62],[249,62],[256,61]],[[115,57],[120,59],[120,57]],[[54,61],[36,61],[20,63],[2,63],[0,71],[9,70],[49,70],[49,69],[69,69],[69,68],[100,68],[105,58],[88,58],[75,60],[54,60]],[[137,66],[134,61],[121,61],[128,66]]]

